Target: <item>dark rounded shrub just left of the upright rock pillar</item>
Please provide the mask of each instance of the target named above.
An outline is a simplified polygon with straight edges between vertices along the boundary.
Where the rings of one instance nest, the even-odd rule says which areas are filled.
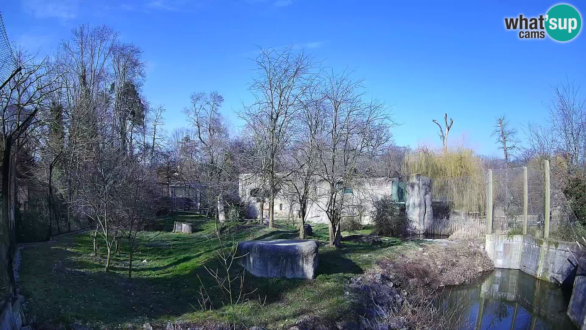
[[[405,214],[405,206],[397,204],[391,196],[385,195],[374,202],[373,210],[374,234],[399,236],[410,230]]]

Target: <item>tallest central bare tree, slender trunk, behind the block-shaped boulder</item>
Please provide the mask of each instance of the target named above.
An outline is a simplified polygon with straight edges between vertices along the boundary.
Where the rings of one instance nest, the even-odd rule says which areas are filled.
[[[274,225],[275,194],[282,180],[277,175],[285,167],[282,156],[292,132],[292,118],[301,109],[308,83],[314,75],[313,59],[303,52],[285,49],[260,49],[254,60],[257,76],[250,84],[255,97],[253,105],[246,107],[240,117],[254,132],[260,150],[260,161],[255,173],[267,182],[269,189],[269,227]]]

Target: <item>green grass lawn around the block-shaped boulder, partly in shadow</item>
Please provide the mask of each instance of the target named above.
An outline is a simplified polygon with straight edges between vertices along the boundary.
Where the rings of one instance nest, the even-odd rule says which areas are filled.
[[[132,281],[127,277],[128,255],[124,245],[121,254],[114,255],[111,271],[104,272],[105,248],[101,248],[101,257],[93,257],[90,233],[23,249],[21,285],[28,299],[28,314],[66,325],[83,322],[109,327],[176,319],[226,321],[229,316],[222,307],[226,297],[214,288],[215,282],[204,268],[219,267],[214,251],[220,243],[214,236],[213,221],[186,214],[161,221],[166,231],[146,233],[152,240],[135,253]],[[197,232],[169,233],[174,221],[190,222]],[[236,230],[234,224],[229,224],[226,227],[236,233],[224,234],[224,244],[230,245],[232,239],[297,237],[294,227],[278,224],[274,229],[248,226],[244,230],[239,229],[243,228],[240,224]],[[411,247],[391,239],[377,247],[347,243],[341,249],[330,248],[326,244],[328,226],[324,224],[314,225],[314,237],[308,238],[323,242],[315,280],[263,279],[246,274],[244,291],[256,291],[237,306],[244,325],[277,328],[306,314],[339,318],[349,306],[344,294],[347,279],[362,274],[383,255]],[[233,266],[234,272],[239,270],[240,267]],[[198,308],[197,275],[212,296],[216,307],[213,311]]]

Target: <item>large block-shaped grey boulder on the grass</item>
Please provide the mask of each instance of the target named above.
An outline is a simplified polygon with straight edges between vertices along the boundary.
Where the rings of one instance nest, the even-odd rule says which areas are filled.
[[[265,278],[314,278],[319,261],[316,241],[242,241],[237,255],[239,265]]]

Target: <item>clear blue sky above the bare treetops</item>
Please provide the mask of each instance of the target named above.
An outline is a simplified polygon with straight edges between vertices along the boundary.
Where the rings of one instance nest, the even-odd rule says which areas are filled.
[[[586,6],[569,2],[582,18]],[[224,114],[251,101],[247,83],[255,44],[296,44],[334,70],[349,68],[402,126],[397,144],[439,144],[444,112],[450,135],[482,154],[500,154],[490,137],[497,116],[513,126],[543,122],[550,85],[576,80],[586,89],[586,35],[573,41],[522,40],[505,17],[538,16],[555,1],[309,0],[11,0],[0,10],[12,41],[51,53],[80,23],[105,23],[144,50],[144,93],[166,107],[168,130],[196,91],[217,90]],[[584,8],[581,8],[584,7]],[[523,137],[520,132],[520,137]],[[454,142],[456,143],[456,142]]]

